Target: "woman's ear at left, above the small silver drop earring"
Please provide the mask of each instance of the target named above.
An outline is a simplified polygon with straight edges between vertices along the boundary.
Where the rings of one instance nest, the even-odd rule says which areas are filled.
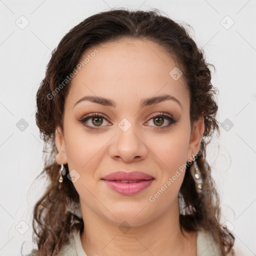
[[[67,157],[65,150],[64,134],[59,126],[57,126],[55,129],[55,145],[57,147],[57,153],[55,156],[57,163],[59,165],[61,165],[61,163],[66,164]]]

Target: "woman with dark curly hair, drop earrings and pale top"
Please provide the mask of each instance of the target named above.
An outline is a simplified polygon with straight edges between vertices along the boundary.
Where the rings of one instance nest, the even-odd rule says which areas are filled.
[[[209,65],[157,9],[97,13],[62,38],[36,95],[49,184],[29,255],[234,255],[205,155]]]

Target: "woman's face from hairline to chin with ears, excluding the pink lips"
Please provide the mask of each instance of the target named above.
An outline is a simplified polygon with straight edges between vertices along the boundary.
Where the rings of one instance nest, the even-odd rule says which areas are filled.
[[[63,131],[57,127],[56,132],[56,159],[68,163],[82,211],[141,225],[177,210],[184,166],[199,149],[203,119],[191,133],[183,77],[159,45],[122,40],[90,54],[94,48],[86,51],[82,60],[93,57],[72,78]],[[149,100],[163,95],[169,97]],[[85,96],[101,103],[82,100]],[[88,117],[92,113],[102,116]],[[118,170],[137,170],[153,180],[139,192],[122,194],[102,179]]]

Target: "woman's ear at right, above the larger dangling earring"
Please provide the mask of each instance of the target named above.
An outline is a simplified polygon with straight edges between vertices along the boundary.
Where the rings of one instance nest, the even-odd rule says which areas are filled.
[[[192,153],[196,154],[199,150],[202,135],[204,133],[204,118],[200,116],[198,120],[193,123],[192,131],[190,134],[190,141],[187,150],[186,159],[192,160]]]

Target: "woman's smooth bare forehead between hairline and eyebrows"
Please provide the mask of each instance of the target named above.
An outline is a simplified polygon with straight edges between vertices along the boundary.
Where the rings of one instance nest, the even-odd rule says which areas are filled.
[[[123,39],[103,43],[88,48],[79,63],[82,61],[71,81],[71,101],[84,95],[102,96],[113,98],[118,107],[120,103],[134,103],[136,98],[171,94],[184,104],[187,102],[182,75],[179,79],[170,75],[177,64],[154,42]]]

